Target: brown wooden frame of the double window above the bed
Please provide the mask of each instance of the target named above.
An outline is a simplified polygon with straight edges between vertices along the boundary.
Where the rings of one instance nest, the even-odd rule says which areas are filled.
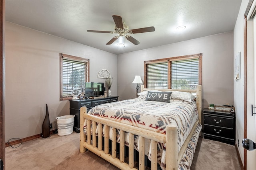
[[[198,58],[198,84],[202,85],[202,53],[194,54],[194,55],[184,55],[184,56],[178,56],[178,57],[170,57],[170,58],[164,58],[164,59],[156,59],[156,60],[150,60],[150,61],[144,61],[144,86],[145,88],[148,88],[147,84],[147,64],[153,64],[153,63],[164,63],[168,62],[168,89],[171,89],[171,62],[172,61],[181,61],[181,60],[188,60],[188,59],[194,59]]]

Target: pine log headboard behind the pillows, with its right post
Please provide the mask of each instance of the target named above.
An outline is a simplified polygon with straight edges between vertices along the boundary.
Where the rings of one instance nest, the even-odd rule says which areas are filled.
[[[196,106],[199,113],[199,123],[201,124],[202,119],[202,85],[197,85],[196,90],[191,89],[152,89],[152,88],[144,88],[144,85],[141,85],[141,92],[147,91],[147,90],[159,90],[162,92],[170,92],[170,91],[180,91],[180,92],[188,92],[188,93],[196,93]]]

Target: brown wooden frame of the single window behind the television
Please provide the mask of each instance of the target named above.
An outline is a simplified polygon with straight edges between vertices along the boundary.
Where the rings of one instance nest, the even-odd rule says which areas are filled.
[[[90,75],[90,59],[60,53],[60,101],[70,100],[73,98],[72,95],[63,96],[63,88],[62,88],[63,87],[63,59],[86,63],[86,70],[85,70],[85,75],[84,75],[85,79],[84,80],[86,80],[86,82],[90,81],[90,76],[89,76]]]

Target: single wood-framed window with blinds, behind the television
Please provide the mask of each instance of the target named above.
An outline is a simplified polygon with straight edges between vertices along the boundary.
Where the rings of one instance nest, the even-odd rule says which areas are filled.
[[[82,91],[89,81],[89,59],[60,53],[60,100],[72,98],[74,89]]]

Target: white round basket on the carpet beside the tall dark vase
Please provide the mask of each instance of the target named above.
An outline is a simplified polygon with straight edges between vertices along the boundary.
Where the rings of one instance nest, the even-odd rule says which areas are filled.
[[[73,133],[75,115],[65,115],[56,117],[58,125],[58,135],[64,136]]]

